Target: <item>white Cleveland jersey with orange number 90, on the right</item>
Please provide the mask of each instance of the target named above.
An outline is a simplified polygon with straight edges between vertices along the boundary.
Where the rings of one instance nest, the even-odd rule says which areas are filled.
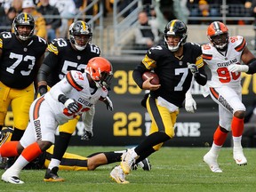
[[[229,72],[228,66],[241,64],[241,55],[246,46],[243,36],[231,36],[228,39],[227,52],[218,52],[212,44],[202,46],[204,63],[211,69],[212,78],[208,81],[210,87],[227,85],[230,87],[241,86],[241,73]]]

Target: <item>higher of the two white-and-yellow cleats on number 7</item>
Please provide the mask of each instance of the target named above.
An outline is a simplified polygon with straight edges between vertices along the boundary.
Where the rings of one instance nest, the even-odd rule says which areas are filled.
[[[131,169],[132,169],[132,164],[135,164],[135,160],[136,158],[138,158],[139,156],[136,154],[136,152],[134,151],[134,148],[129,148],[127,150],[127,152],[125,152],[121,158],[121,168],[124,171],[124,174],[129,174]]]

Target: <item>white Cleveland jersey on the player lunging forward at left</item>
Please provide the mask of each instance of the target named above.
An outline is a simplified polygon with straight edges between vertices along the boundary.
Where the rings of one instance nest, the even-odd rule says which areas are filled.
[[[80,108],[76,114],[69,112],[68,108],[65,108],[58,100],[60,94],[64,94],[79,103]],[[107,96],[108,90],[106,88],[92,89],[90,87],[86,73],[71,70],[58,84],[52,86],[50,92],[44,95],[44,100],[52,108],[52,112],[59,124],[64,124],[75,116],[81,116],[84,111],[93,108],[100,98],[106,98]]]

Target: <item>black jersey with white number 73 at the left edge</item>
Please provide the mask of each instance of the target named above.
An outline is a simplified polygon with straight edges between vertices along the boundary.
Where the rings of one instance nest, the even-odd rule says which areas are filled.
[[[0,34],[0,81],[8,87],[24,89],[36,78],[36,60],[40,59],[47,48],[46,41],[32,36],[24,44],[11,32]]]

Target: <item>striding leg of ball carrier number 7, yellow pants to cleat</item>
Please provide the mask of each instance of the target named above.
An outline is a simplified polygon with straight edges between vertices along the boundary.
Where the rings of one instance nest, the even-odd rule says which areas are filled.
[[[158,105],[157,100],[151,97],[147,100],[147,108],[152,119],[150,134],[139,146],[128,149],[122,156],[121,167],[125,174],[130,172],[132,164],[139,156],[142,159],[146,158],[161,148],[164,141],[170,140],[174,136],[174,124],[179,110],[170,113],[170,109]]]

